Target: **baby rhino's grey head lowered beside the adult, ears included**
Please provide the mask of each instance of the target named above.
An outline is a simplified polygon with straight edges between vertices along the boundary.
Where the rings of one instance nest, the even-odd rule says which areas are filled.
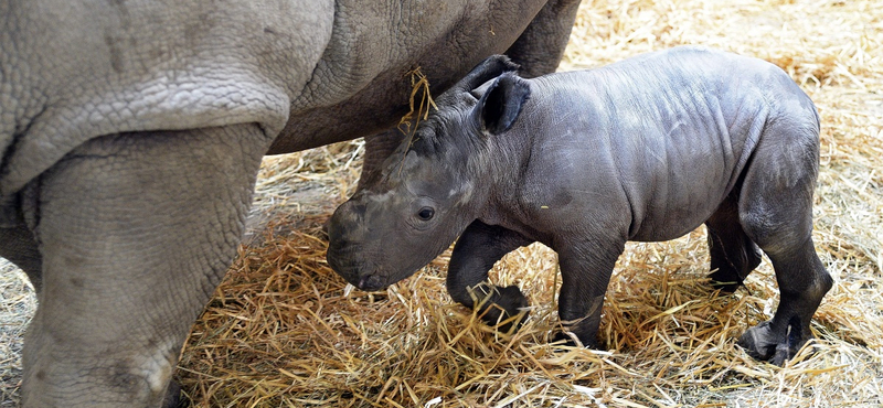
[[[509,130],[530,93],[515,68],[497,55],[472,69],[386,160],[379,182],[338,207],[328,227],[334,271],[360,289],[382,289],[432,261],[478,217],[481,186],[492,182],[478,164],[492,160],[480,158],[486,139]]]

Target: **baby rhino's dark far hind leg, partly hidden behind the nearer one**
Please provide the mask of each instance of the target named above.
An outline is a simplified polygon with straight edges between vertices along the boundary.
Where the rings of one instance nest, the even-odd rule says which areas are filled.
[[[742,229],[738,206],[727,197],[705,222],[711,254],[711,280],[715,288],[734,292],[760,265],[760,249]]]

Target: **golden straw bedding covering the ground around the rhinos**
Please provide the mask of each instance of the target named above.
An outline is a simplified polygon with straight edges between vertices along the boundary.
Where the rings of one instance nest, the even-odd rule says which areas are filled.
[[[541,245],[491,272],[531,300],[517,333],[497,333],[451,303],[449,254],[383,292],[347,287],[325,261],[321,225],[354,190],[363,143],[353,141],[265,160],[253,233],[182,352],[184,391],[198,407],[883,404],[883,8],[584,0],[561,69],[679,44],[768,60],[821,115],[813,238],[836,284],[812,323],[818,342],[786,367],[735,346],[777,305],[772,266],[765,260],[735,294],[715,296],[703,228],[627,246],[604,307],[607,351],[549,344],[561,279]]]

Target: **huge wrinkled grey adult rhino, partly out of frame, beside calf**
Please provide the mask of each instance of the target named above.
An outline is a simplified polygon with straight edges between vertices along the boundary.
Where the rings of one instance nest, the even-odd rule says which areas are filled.
[[[403,75],[553,71],[577,0],[0,1],[0,255],[38,288],[25,407],[157,407],[260,158],[376,133]],[[392,133],[369,142],[372,162]],[[377,149],[377,147],[381,149]]]

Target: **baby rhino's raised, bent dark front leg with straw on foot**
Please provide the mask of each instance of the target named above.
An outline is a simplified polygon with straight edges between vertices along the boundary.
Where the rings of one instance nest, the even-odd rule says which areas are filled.
[[[479,315],[489,325],[518,315],[521,309],[528,307],[528,298],[515,286],[499,288],[488,283],[488,271],[506,254],[531,243],[531,239],[511,229],[480,221],[472,222],[454,246],[448,265],[448,293],[467,308],[481,308]],[[524,318],[521,318],[517,324],[523,321]],[[508,332],[511,322],[498,329]]]

